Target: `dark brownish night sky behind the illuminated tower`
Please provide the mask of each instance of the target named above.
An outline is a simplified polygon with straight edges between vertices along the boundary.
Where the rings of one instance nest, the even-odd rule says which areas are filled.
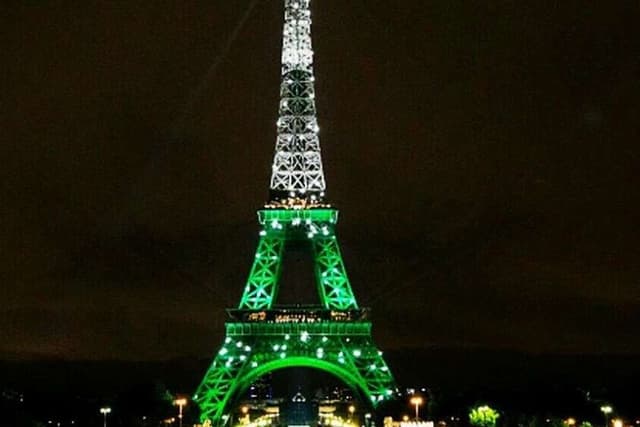
[[[0,357],[212,355],[267,197],[281,2],[237,33],[252,1],[14,3]],[[379,345],[640,352],[638,2],[313,13],[328,195]]]

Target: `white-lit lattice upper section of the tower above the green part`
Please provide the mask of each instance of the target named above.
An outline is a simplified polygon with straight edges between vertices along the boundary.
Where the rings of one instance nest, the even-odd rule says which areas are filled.
[[[313,206],[326,188],[318,139],[310,0],[284,0],[282,82],[273,157],[272,204]]]

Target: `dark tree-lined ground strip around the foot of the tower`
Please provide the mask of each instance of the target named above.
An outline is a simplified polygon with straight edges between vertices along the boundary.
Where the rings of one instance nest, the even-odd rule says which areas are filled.
[[[404,393],[414,388],[424,389],[423,416],[448,425],[465,425],[469,408],[480,403],[497,408],[503,426],[551,427],[569,417],[602,425],[604,404],[613,406],[612,417],[630,425],[640,420],[639,356],[406,350],[385,357],[403,395],[380,416],[412,414]],[[161,425],[176,416],[173,399],[192,393],[208,363],[0,362],[0,426],[99,426],[103,406],[112,408],[109,426]],[[312,376],[302,384],[299,373],[278,373],[274,394],[287,397],[297,387],[313,397],[334,385],[331,377]],[[185,425],[197,415],[187,405]]]

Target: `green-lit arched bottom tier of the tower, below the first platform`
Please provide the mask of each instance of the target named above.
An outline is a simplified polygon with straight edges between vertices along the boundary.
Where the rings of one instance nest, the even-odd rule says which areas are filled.
[[[370,322],[229,322],[224,344],[194,395],[202,419],[219,424],[253,381],[293,366],[332,373],[372,407],[396,391],[389,367],[373,344]]]

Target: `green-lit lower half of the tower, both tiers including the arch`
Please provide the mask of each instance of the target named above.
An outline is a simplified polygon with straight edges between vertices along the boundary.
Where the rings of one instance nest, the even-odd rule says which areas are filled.
[[[260,242],[239,307],[194,400],[202,421],[220,425],[233,402],[260,376],[282,368],[327,371],[376,407],[395,383],[359,308],[334,234],[338,211],[326,207],[258,212]],[[317,306],[278,307],[283,252],[306,242],[315,263]]]

